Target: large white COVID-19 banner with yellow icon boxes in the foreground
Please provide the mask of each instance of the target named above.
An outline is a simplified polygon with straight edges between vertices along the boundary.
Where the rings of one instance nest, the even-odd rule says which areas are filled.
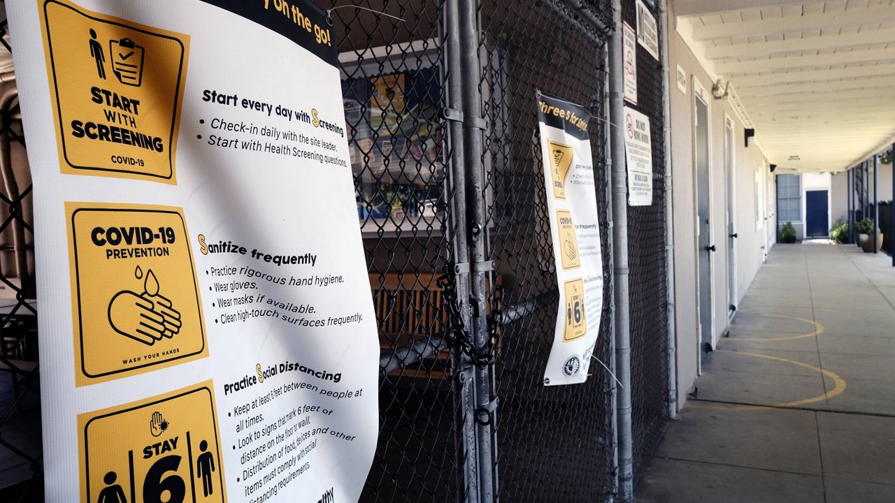
[[[47,501],[357,501],[379,342],[326,14],[7,9]]]

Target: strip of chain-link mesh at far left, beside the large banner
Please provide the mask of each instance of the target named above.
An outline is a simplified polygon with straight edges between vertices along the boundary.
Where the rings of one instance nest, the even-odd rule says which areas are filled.
[[[12,57],[0,21],[0,73]],[[0,501],[43,499],[31,174],[14,81],[0,79]]]

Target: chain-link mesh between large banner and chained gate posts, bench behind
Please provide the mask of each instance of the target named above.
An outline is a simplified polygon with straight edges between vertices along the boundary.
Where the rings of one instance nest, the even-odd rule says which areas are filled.
[[[362,501],[462,500],[462,413],[456,358],[447,349],[450,295],[442,288],[449,281],[439,286],[454,262],[448,221],[456,194],[441,118],[444,5],[354,4],[331,15],[382,350],[379,443]]]

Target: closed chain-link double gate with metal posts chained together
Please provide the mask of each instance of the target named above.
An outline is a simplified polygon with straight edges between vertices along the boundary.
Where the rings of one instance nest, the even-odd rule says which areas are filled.
[[[542,383],[558,287],[535,92],[595,117],[606,288],[594,355],[609,363],[609,3],[356,5],[333,18],[383,348],[362,500],[608,499],[611,377],[593,365],[584,385]],[[421,158],[422,130],[434,141]]]

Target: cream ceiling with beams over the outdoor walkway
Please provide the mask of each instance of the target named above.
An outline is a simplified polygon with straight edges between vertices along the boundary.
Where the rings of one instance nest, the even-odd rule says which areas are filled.
[[[674,0],[680,35],[782,171],[895,141],[895,0]],[[741,104],[741,105],[740,105]]]

